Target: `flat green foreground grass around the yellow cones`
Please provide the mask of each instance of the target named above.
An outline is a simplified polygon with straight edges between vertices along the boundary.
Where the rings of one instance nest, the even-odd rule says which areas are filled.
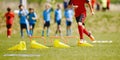
[[[95,33],[97,40],[112,40],[111,44],[93,44],[94,47],[78,47],[77,39],[68,39],[71,48],[54,48],[53,44],[47,40],[49,49],[31,49],[30,40],[28,38],[21,39],[19,35],[13,35],[13,38],[6,38],[5,34],[0,37],[0,60],[119,60],[120,59],[120,33]],[[86,38],[87,39],[87,38]],[[27,42],[26,51],[8,51],[7,49],[19,41]],[[41,39],[37,42],[43,44]],[[62,40],[61,40],[62,41]],[[72,42],[72,43],[70,43]],[[40,54],[40,57],[5,57],[4,54]]]

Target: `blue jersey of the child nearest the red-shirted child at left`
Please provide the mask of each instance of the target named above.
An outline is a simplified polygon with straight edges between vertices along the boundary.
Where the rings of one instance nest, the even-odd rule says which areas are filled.
[[[28,11],[27,10],[20,10],[18,15],[20,17],[20,24],[28,23],[28,20],[27,20]]]

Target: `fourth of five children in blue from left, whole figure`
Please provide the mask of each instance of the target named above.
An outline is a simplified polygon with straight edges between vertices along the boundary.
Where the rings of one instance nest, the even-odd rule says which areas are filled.
[[[59,32],[60,36],[62,35],[61,34],[61,19],[62,19],[62,11],[61,11],[61,5],[60,4],[57,4],[57,9],[55,10],[55,21],[57,23],[57,30],[56,30],[56,36],[57,36],[57,33]]]

